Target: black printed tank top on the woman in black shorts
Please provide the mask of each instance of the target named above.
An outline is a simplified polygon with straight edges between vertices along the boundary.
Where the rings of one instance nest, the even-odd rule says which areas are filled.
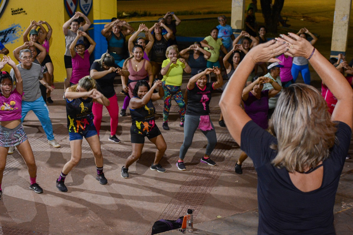
[[[139,99],[138,97],[134,97]],[[146,134],[156,127],[155,124],[155,107],[152,100],[138,109],[130,109],[132,126],[131,129],[137,134]]]

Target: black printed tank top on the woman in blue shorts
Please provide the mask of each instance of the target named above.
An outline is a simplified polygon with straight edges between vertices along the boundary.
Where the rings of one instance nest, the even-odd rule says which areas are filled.
[[[78,98],[72,101],[66,99],[68,132],[80,133],[84,131],[87,126],[93,124],[92,105],[92,98],[85,100]]]

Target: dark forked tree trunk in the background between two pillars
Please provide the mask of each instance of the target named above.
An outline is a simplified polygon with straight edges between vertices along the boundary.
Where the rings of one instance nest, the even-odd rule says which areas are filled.
[[[268,32],[277,33],[278,19],[281,15],[285,0],[260,0],[262,15],[265,19],[265,26]]]

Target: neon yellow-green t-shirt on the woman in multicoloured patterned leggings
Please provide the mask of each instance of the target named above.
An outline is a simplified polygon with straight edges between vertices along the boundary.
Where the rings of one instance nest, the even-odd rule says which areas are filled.
[[[169,58],[164,60],[162,63],[162,68],[166,67],[169,62]],[[168,72],[163,76],[162,81],[166,81],[166,85],[181,86],[181,83],[183,82],[184,68],[185,64],[181,63],[178,59],[176,64],[170,64]]]

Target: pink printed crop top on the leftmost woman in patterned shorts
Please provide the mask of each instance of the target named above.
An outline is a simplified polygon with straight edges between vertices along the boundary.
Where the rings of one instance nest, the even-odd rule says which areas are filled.
[[[0,93],[0,122],[12,121],[20,119],[22,112],[22,94],[14,89],[10,93],[10,97],[6,98]]]

